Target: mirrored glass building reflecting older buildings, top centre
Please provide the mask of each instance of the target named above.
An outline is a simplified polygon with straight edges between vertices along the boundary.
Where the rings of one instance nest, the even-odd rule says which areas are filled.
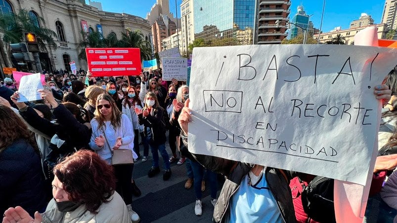
[[[193,0],[194,38],[235,38],[252,44],[256,5],[257,0]]]

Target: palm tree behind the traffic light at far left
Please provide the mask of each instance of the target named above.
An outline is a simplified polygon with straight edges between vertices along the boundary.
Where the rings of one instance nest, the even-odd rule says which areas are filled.
[[[37,19],[44,21],[39,16],[37,16]],[[6,43],[22,42],[25,33],[34,33],[42,50],[46,49],[45,43],[48,43],[50,47],[56,48],[53,38],[56,37],[56,33],[35,24],[29,12],[25,9],[21,9],[15,14],[3,13],[0,16],[0,32],[3,33],[3,41]]]

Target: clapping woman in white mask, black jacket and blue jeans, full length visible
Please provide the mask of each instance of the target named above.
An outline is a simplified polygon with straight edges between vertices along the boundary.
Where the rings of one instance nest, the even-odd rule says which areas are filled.
[[[163,180],[167,181],[171,177],[170,157],[166,150],[166,125],[163,120],[164,109],[159,105],[156,94],[147,92],[145,96],[145,107],[142,110],[135,108],[139,117],[139,123],[144,124],[144,134],[149,141],[150,150],[152,151],[153,160],[147,176],[154,177],[160,173],[159,151],[164,161]]]

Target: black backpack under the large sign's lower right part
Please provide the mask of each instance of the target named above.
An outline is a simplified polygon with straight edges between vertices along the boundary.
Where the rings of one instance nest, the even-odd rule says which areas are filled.
[[[319,223],[336,223],[334,180],[315,177],[302,191],[302,205],[308,217]]]

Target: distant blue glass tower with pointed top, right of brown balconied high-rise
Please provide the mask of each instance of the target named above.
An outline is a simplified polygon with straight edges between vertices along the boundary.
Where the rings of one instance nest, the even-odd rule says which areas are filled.
[[[314,29],[313,23],[309,19],[309,15],[306,14],[303,6],[298,6],[297,13],[294,15],[294,17],[292,17],[291,20],[290,38],[294,38],[302,33],[305,33],[305,30],[307,31],[307,35],[312,37]]]

